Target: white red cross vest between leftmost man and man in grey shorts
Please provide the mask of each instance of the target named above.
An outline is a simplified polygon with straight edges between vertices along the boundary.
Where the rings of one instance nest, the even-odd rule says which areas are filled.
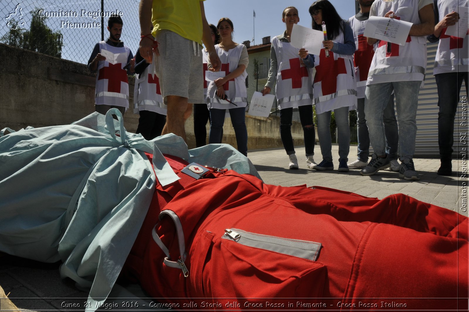
[[[166,105],[161,96],[159,78],[150,74],[151,66],[147,66],[143,73],[135,79],[134,86],[134,114],[140,110],[149,110],[166,115]]]

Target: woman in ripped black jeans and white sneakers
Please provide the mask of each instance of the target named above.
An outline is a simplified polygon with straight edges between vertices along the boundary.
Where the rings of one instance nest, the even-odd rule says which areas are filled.
[[[298,10],[295,7],[287,7],[283,10],[282,22],[285,23],[287,30],[272,39],[269,77],[262,94],[269,94],[273,84],[277,81],[275,95],[280,109],[280,138],[289,158],[290,169],[298,169],[291,133],[293,108],[298,107],[303,126],[306,165],[312,169],[316,165],[313,159],[315,133],[312,69],[304,67],[298,57],[298,49],[290,44],[293,25],[299,21]]]

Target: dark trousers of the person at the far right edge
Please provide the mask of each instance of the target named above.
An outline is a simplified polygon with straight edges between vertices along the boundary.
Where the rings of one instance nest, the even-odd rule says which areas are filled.
[[[454,141],[454,116],[459,103],[462,80],[468,95],[468,72],[435,75],[438,88],[438,146],[441,160],[451,160]]]

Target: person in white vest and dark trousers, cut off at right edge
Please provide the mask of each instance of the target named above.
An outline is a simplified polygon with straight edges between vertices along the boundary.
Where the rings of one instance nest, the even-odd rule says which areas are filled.
[[[458,22],[458,7],[468,7],[469,0],[433,0],[435,30],[428,41],[437,42],[433,75],[438,88],[438,147],[441,165],[439,175],[451,175],[454,143],[454,116],[460,101],[462,81],[468,97],[468,41],[469,31],[458,33],[458,37],[447,35],[446,28]],[[462,100],[462,99],[461,99]]]

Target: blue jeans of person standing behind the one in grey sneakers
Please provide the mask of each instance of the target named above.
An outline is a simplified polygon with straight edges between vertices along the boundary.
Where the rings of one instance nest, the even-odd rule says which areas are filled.
[[[356,108],[356,130],[358,137],[357,156],[362,162],[368,162],[370,155],[370,135],[365,118],[365,98],[357,100]],[[384,129],[386,134],[386,154],[390,159],[398,158],[397,148],[399,146],[399,130],[397,128],[396,114],[394,112],[394,94],[391,94],[389,101],[383,111]]]

